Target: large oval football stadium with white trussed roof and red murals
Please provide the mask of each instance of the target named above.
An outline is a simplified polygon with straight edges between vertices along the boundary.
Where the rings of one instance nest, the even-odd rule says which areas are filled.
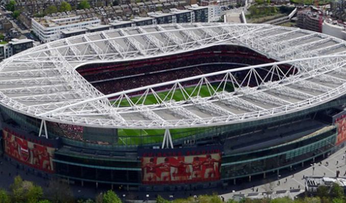
[[[343,147],[345,92],[346,42],[299,28],[89,33],[0,64],[0,151],[82,186],[227,187]]]

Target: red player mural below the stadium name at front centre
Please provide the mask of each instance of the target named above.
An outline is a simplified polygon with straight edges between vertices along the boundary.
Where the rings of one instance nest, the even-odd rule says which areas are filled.
[[[181,150],[143,153],[141,159],[142,183],[189,183],[220,179],[220,149]]]

